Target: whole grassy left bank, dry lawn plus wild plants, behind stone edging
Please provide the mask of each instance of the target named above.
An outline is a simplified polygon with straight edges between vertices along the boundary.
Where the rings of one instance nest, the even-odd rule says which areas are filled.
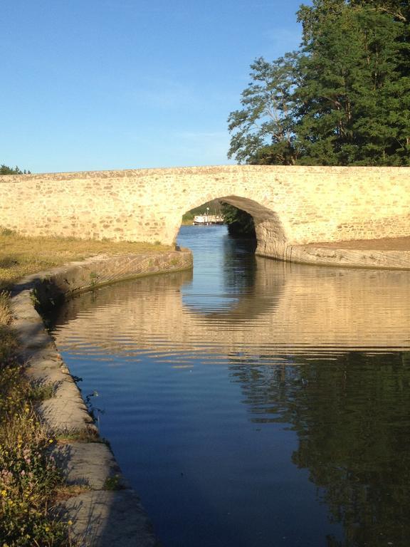
[[[47,456],[56,442],[33,408],[48,395],[26,380],[16,358],[18,342],[11,328],[8,291],[37,271],[97,254],[157,252],[169,247],[141,243],[28,238],[0,231],[0,546],[71,546],[70,522],[50,516],[61,497],[70,496]]]

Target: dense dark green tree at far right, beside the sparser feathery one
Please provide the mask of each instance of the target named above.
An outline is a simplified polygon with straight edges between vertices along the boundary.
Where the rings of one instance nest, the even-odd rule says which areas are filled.
[[[410,165],[404,23],[374,6],[315,5],[299,15],[306,53],[296,92],[300,163]]]

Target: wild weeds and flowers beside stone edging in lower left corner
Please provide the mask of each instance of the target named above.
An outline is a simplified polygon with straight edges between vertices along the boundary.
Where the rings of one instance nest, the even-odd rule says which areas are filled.
[[[55,441],[27,402],[36,390],[31,392],[13,351],[10,343],[0,367],[0,538],[9,547],[68,545],[67,524],[48,514],[61,484],[48,457]]]

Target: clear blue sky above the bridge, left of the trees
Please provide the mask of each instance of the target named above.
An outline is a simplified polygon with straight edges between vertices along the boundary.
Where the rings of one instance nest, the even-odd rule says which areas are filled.
[[[300,0],[3,0],[0,163],[228,163],[249,65],[300,43]],[[305,1],[305,4],[310,4]]]

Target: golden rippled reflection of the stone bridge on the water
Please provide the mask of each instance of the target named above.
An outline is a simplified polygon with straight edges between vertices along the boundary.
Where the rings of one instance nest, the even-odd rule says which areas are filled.
[[[58,323],[76,319],[69,331],[61,330],[59,343],[87,333],[93,345],[120,350],[112,325],[121,325],[121,340],[139,348],[158,348],[159,339],[160,345],[181,350],[191,350],[194,343],[230,353],[240,346],[251,355],[264,348],[270,353],[409,348],[408,273],[289,266],[260,257],[254,261],[252,284],[248,278],[238,291],[227,284],[207,294],[201,307],[197,301],[191,304],[196,291],[191,291],[189,271],[140,278],[75,298],[57,318]],[[223,305],[213,298],[221,298]]]

